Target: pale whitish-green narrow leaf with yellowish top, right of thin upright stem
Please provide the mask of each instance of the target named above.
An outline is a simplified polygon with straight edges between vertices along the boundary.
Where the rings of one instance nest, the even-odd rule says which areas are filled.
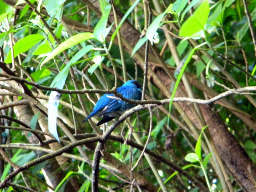
[[[154,39],[154,36],[155,36],[155,33],[156,33],[156,30],[160,27],[160,22],[161,20],[163,19],[164,15],[167,13],[167,12],[170,12],[172,10],[172,4],[170,4],[167,9],[161,13],[160,15],[158,15],[156,17],[156,19],[153,20],[153,22],[150,24],[150,26],[148,27],[148,30],[147,30],[147,33],[146,33],[146,36],[148,38],[148,40],[150,41],[151,44],[153,44],[153,39]],[[162,23],[163,24],[163,23]]]

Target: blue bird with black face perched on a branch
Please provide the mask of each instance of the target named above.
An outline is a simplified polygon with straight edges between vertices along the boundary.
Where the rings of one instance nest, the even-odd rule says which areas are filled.
[[[141,100],[142,85],[136,80],[130,80],[125,82],[121,87],[116,89],[116,92],[121,93],[123,97],[132,100]],[[102,119],[97,123],[101,125],[108,121],[121,116],[126,110],[135,107],[135,104],[127,103],[122,100],[110,99],[107,96],[114,96],[114,94],[104,94],[96,103],[92,113],[87,116],[84,121],[87,121],[93,116],[103,116]],[[84,121],[82,123],[84,123]]]

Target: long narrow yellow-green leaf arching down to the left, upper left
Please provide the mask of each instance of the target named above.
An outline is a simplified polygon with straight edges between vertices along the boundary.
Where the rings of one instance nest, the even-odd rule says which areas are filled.
[[[44,63],[51,60],[54,56],[58,55],[59,53],[63,52],[64,50],[68,49],[69,47],[72,47],[76,44],[79,44],[83,41],[86,41],[86,40],[92,39],[92,38],[93,38],[93,34],[90,32],[79,33],[77,35],[69,37],[66,41],[63,41],[51,53],[49,53],[49,55],[42,62],[41,67],[42,67],[42,65],[44,65]]]

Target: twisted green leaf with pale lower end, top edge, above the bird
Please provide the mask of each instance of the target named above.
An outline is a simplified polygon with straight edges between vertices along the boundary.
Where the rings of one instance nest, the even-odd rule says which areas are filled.
[[[111,4],[106,0],[99,0],[100,2],[100,10],[102,12],[101,18],[97,25],[94,28],[93,36],[98,39],[100,42],[103,42],[106,34],[106,26],[108,22],[108,15],[111,10]]]

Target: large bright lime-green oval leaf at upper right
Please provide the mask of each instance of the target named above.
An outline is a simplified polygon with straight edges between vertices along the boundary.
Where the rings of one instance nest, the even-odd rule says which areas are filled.
[[[193,36],[198,31],[204,29],[210,6],[208,1],[204,1],[194,12],[194,14],[184,22],[180,28],[180,36]]]

